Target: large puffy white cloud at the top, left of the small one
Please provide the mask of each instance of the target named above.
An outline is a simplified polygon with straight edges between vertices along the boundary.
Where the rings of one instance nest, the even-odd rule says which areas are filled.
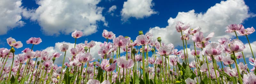
[[[69,34],[81,30],[85,36],[97,31],[98,23],[108,23],[102,16],[104,8],[98,7],[100,0],[39,0],[31,20],[37,21],[46,35]]]

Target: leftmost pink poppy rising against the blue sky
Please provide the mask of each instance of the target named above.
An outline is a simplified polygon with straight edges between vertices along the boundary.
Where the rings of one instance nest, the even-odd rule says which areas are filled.
[[[20,41],[16,42],[16,40],[12,37],[7,38],[6,41],[10,46],[13,46],[15,48],[21,48],[23,46],[23,44]]]

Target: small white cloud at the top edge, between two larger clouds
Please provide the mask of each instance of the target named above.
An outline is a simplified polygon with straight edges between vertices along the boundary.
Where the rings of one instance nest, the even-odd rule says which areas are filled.
[[[152,9],[154,3],[152,0],[128,0],[124,2],[121,16],[123,21],[127,21],[130,17],[136,19],[144,18],[156,14]]]

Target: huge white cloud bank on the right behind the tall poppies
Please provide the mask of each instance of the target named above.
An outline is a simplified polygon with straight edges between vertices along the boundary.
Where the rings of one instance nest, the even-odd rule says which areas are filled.
[[[170,17],[168,20],[169,25],[165,28],[156,26],[150,28],[148,32],[153,34],[155,39],[162,37],[163,42],[172,42],[175,46],[182,46],[182,43],[180,43],[181,34],[175,29],[176,23],[181,21],[185,24],[189,23],[192,25],[191,28],[200,26],[204,36],[214,32],[215,35],[211,41],[217,41],[222,37],[230,38],[234,36],[233,34],[225,33],[228,24],[240,24],[247,18],[255,16],[248,11],[249,7],[243,0],[221,1],[209,8],[205,13],[195,13],[195,10],[179,12],[175,18]],[[192,40],[188,42],[192,44]]]

